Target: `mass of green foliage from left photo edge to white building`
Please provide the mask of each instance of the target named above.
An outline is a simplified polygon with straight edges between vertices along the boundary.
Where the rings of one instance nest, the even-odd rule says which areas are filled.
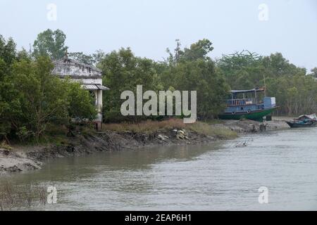
[[[69,124],[70,118],[93,120],[97,110],[80,84],[51,75],[47,56],[35,60],[15,52],[11,39],[0,40],[0,138],[39,139],[49,124]]]

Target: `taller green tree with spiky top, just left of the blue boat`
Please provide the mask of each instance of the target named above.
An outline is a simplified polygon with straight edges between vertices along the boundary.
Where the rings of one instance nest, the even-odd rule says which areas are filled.
[[[161,84],[180,91],[197,91],[197,115],[201,119],[216,117],[225,108],[225,98],[230,87],[223,74],[207,54],[213,50],[211,41],[203,39],[180,49],[177,42],[175,55],[161,68]]]

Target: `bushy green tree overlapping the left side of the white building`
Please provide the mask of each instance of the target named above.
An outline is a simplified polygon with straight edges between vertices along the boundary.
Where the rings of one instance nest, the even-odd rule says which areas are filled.
[[[97,115],[89,91],[52,75],[52,69],[51,60],[45,56],[13,64],[11,90],[17,90],[17,98],[10,103],[7,120],[20,139],[35,138],[38,142],[48,124],[69,127],[70,119],[91,121]]]

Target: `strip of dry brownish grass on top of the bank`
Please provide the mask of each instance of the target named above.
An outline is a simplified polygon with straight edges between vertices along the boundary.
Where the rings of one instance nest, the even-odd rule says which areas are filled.
[[[217,136],[225,139],[233,139],[237,137],[237,133],[226,127],[216,127],[214,124],[219,124],[219,120],[209,122],[194,122],[193,124],[184,124],[183,120],[171,118],[163,121],[147,120],[139,123],[112,123],[103,124],[104,131],[126,132],[132,131],[137,134],[154,134],[158,131],[168,131],[170,129],[188,129],[197,134],[207,136]]]

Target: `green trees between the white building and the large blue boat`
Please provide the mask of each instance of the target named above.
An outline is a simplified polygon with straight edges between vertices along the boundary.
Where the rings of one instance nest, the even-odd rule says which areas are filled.
[[[156,62],[135,57],[130,49],[108,53],[101,61],[104,84],[110,87],[104,94],[104,118],[118,122],[129,118],[120,114],[124,100],[120,94],[125,90],[136,91],[138,84],[144,90],[197,91],[197,114],[201,118],[213,118],[225,107],[229,86],[215,63],[207,56],[213,49],[211,41],[203,39],[180,49],[177,42],[175,55],[170,53],[166,62]],[[132,117],[142,120],[143,117]]]

